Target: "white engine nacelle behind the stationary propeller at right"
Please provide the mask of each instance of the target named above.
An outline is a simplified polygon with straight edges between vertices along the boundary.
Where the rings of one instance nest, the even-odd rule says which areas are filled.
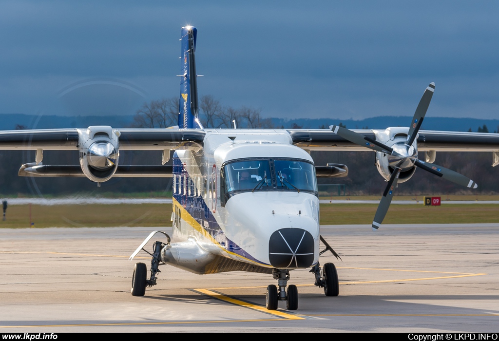
[[[381,176],[383,176],[387,181],[390,179],[392,172],[394,171],[393,165],[400,160],[400,156],[405,155],[407,160],[398,167],[401,168],[398,182],[405,182],[411,178],[411,176],[416,171],[416,166],[414,166],[415,159],[418,158],[418,146],[416,139],[412,144],[409,151],[405,146],[407,134],[409,128],[407,127],[392,127],[386,130],[375,130],[376,141],[391,147],[395,153],[394,155],[387,155],[381,152],[376,152],[376,168],[378,169]]]

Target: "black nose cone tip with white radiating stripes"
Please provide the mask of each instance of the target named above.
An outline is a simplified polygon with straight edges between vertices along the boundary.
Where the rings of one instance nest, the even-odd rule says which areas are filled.
[[[303,229],[281,228],[270,236],[268,253],[275,268],[308,268],[314,259],[314,240]]]

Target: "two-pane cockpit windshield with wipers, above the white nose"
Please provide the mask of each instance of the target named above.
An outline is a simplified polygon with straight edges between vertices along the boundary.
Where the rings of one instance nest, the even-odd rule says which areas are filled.
[[[222,172],[224,192],[308,191],[317,195],[314,166],[295,159],[247,159],[227,163]]]

